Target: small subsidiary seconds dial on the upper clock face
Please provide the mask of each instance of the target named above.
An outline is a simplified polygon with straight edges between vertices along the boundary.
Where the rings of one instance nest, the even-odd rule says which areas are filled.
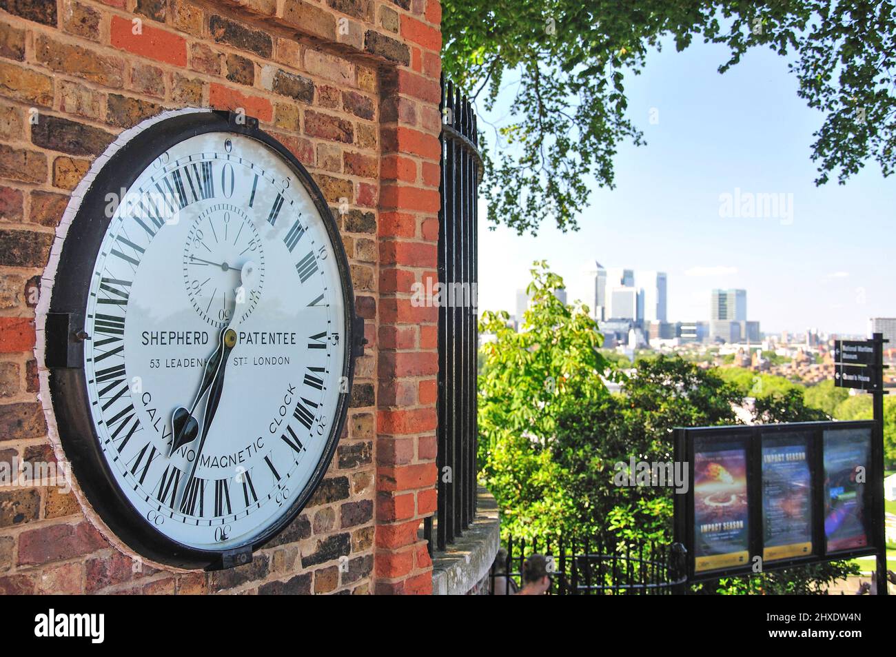
[[[253,282],[240,286],[239,272],[254,263]],[[246,319],[262,296],[264,249],[253,222],[237,206],[217,203],[193,222],[184,246],[184,282],[194,310],[215,328],[232,315]]]

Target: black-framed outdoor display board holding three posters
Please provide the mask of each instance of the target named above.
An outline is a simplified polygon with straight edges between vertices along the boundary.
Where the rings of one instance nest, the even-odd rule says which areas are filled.
[[[875,554],[874,422],[676,429],[676,541],[692,580]],[[881,521],[883,522],[883,521]]]

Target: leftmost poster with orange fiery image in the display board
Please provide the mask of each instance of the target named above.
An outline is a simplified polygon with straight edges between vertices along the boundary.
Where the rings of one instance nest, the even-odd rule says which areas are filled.
[[[694,445],[694,571],[746,566],[749,549],[745,447]]]

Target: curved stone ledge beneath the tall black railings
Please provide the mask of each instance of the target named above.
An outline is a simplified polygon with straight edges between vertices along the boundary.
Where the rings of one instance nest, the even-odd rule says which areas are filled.
[[[433,595],[466,595],[482,581],[501,544],[501,519],[495,497],[478,489],[476,518],[444,552],[433,553]]]

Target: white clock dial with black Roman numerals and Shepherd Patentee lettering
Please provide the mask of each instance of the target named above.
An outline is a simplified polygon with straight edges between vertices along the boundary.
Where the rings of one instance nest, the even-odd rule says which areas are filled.
[[[93,264],[84,377],[108,470],[168,539],[244,546],[319,471],[347,393],[336,255],[294,170],[245,135],[187,137],[127,190]],[[172,452],[178,407],[198,431]]]

